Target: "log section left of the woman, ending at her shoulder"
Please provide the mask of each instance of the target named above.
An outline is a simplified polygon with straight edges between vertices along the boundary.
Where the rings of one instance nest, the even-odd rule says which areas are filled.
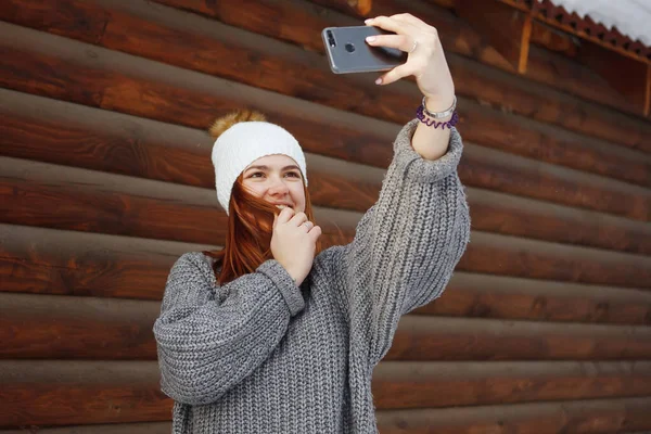
[[[3,292],[162,299],[169,269],[207,244],[0,225]]]

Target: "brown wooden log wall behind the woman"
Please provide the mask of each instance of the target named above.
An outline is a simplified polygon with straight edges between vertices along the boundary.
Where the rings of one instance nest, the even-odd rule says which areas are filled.
[[[169,432],[151,329],[176,258],[224,242],[216,116],[295,133],[326,244],[349,239],[420,98],[330,73],[344,3],[0,3],[0,430]],[[518,76],[424,0],[371,14],[404,11],[447,50],[473,231],[375,370],[381,432],[651,430],[651,123],[558,53]]]

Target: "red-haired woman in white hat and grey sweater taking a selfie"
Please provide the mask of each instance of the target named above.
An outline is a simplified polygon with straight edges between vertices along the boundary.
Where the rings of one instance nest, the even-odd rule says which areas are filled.
[[[350,244],[315,257],[321,230],[289,132],[259,118],[214,128],[226,247],[175,264],[154,326],[175,433],[375,433],[373,368],[400,316],[441,295],[465,248],[462,144],[436,30],[408,14],[367,25],[396,34],[368,43],[409,52],[378,84],[413,75],[426,106],[399,132]]]

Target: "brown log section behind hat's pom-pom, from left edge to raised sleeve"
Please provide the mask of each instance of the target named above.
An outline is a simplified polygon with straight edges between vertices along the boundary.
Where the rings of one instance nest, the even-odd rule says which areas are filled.
[[[0,33],[3,34],[2,28],[8,29],[5,26],[0,23]],[[10,34],[15,36],[14,30],[22,31],[13,27]],[[55,40],[47,34],[34,33],[31,36],[37,39],[44,37],[39,47],[33,47],[38,50],[56,50],[52,46],[58,42],[68,44],[68,41]],[[75,51],[81,48],[75,44]],[[69,46],[64,51],[72,48]],[[218,78],[168,69],[170,67],[166,65],[151,64],[99,48],[93,49],[103,53],[99,63],[97,53],[88,56],[77,52],[82,56],[78,64],[66,60],[75,55],[71,52],[60,52],[56,56],[31,56],[25,52],[18,54],[9,47],[0,50],[7,55],[17,56],[11,67],[5,65],[8,67],[2,68],[0,84],[8,88],[200,129],[235,107],[258,108],[268,114],[270,122],[291,130],[308,152],[380,167],[388,165],[393,151],[379,136],[388,133],[393,138],[399,129],[397,125],[367,119],[375,132],[363,137],[356,128],[360,116]],[[114,55],[118,59],[110,59]],[[41,79],[38,71],[42,68],[55,69],[56,77]]]

